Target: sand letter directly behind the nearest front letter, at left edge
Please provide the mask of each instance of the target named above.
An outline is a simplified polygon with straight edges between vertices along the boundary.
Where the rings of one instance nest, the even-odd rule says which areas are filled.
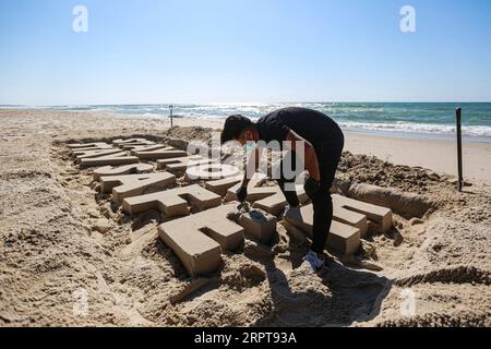
[[[167,217],[176,217],[189,215],[188,203],[197,210],[205,210],[221,205],[221,197],[194,184],[124,198],[122,209],[130,215],[158,209]]]

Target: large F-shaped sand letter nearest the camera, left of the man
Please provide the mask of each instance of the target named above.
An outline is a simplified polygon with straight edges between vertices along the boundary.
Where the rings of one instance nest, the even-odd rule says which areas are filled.
[[[221,250],[236,250],[243,243],[244,229],[227,219],[237,203],[165,222],[158,236],[192,276],[215,272],[221,263]]]

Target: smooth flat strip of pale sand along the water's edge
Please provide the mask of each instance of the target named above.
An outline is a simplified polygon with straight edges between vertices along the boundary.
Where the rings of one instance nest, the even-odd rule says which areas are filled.
[[[130,117],[115,112],[93,112],[93,111],[60,111],[55,109],[35,110],[35,109],[2,109],[0,118],[12,116],[36,116],[61,118],[60,129],[71,128],[75,123],[77,128],[83,127],[84,121],[87,125],[97,124],[99,129],[111,129],[124,125],[124,131],[130,129],[135,131],[142,127],[151,127],[156,133],[170,128],[169,118],[145,118]],[[94,123],[93,121],[96,121]],[[121,123],[115,124],[115,119]],[[41,122],[41,120],[39,120]],[[63,122],[65,121],[65,122]],[[225,120],[214,118],[176,118],[175,127],[202,127],[219,130]],[[63,125],[65,123],[65,125]],[[145,128],[147,129],[147,128]],[[354,154],[364,154],[379,157],[382,160],[395,165],[405,165],[412,167],[422,167],[429,170],[456,176],[457,158],[456,142],[450,140],[433,140],[421,137],[402,137],[390,134],[374,134],[358,131],[344,130],[346,142],[345,151]],[[3,134],[2,134],[3,135]],[[424,154],[424,156],[421,156]],[[463,142],[464,154],[464,179],[469,181],[486,182],[491,185],[491,143],[488,142]]]

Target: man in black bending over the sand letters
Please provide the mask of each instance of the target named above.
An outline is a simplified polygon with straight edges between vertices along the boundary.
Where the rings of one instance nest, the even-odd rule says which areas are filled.
[[[324,265],[323,252],[327,233],[333,220],[333,202],[331,198],[331,185],[333,184],[337,166],[343,153],[344,135],[338,124],[326,115],[306,108],[284,108],[261,118],[258,122],[242,116],[230,116],[225,122],[221,132],[221,144],[237,141],[242,146],[250,142],[264,141],[266,144],[280,144],[289,151],[289,155],[302,160],[309,171],[306,181],[306,193],[313,204],[313,241],[311,251],[304,261],[309,262],[316,272]],[[274,142],[276,141],[276,142]],[[285,142],[286,141],[286,142]],[[271,143],[273,142],[273,143]],[[284,143],[285,142],[285,143]],[[300,146],[302,143],[303,146]],[[303,154],[296,151],[303,148]],[[247,168],[259,168],[260,149],[256,147],[251,155]],[[292,161],[295,163],[295,160]],[[280,166],[283,169],[283,164]],[[246,171],[242,185],[237,191],[237,197],[244,202],[248,195],[250,176]],[[300,203],[295,191],[295,178],[286,178],[282,170],[278,184],[288,202],[286,216],[295,216],[300,208]]]

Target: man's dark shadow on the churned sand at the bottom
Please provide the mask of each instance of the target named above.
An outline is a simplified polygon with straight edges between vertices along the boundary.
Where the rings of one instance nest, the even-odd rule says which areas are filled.
[[[349,326],[374,318],[392,286],[383,276],[347,267],[333,258],[320,273],[302,266],[301,256],[308,245],[295,246],[288,275],[278,260],[254,258],[266,269],[273,302],[272,312],[259,320],[256,326]],[[297,250],[297,251],[296,251]],[[283,264],[280,261],[280,264]],[[306,279],[306,275],[308,275]],[[301,277],[296,282],[296,277]],[[307,281],[306,281],[307,280]],[[290,284],[295,284],[295,291]],[[301,289],[301,290],[299,290]]]

